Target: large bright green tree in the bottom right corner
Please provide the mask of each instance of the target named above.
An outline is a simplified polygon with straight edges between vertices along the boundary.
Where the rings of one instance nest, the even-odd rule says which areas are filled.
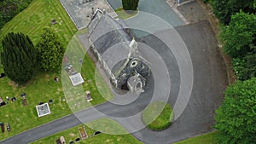
[[[256,143],[256,78],[230,85],[216,111],[220,144]]]

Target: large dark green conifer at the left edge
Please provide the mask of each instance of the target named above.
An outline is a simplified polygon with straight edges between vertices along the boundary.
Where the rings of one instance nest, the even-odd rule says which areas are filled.
[[[3,37],[1,61],[6,75],[17,84],[25,84],[33,75],[36,49],[29,37],[22,33],[8,33]]]

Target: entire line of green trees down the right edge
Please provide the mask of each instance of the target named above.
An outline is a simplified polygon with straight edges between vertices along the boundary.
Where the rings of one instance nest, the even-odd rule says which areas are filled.
[[[220,144],[256,143],[256,0],[203,0],[211,3],[224,52],[237,76],[216,111]]]

